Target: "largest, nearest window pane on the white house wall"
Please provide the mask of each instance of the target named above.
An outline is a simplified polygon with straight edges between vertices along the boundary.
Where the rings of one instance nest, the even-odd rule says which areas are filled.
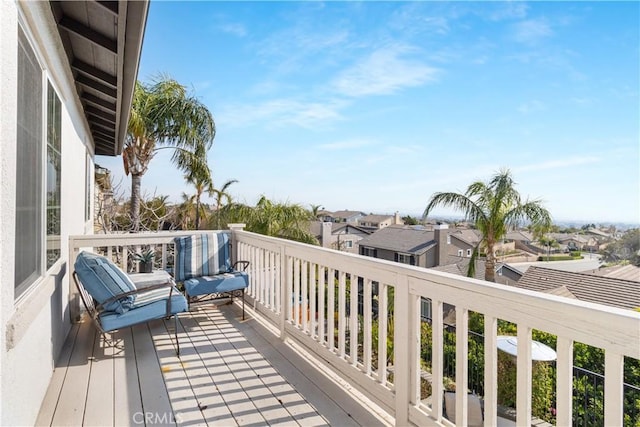
[[[18,28],[15,296],[42,274],[42,69]]]

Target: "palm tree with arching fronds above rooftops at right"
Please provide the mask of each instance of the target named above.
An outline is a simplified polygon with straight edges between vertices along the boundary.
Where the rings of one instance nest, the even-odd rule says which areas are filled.
[[[521,225],[525,220],[534,227],[551,226],[551,215],[540,200],[521,202],[520,194],[514,188],[515,182],[508,169],[498,172],[488,183],[476,181],[464,194],[435,193],[431,196],[423,217],[436,206],[450,206],[461,210],[466,221],[475,223],[482,232],[482,239],[473,251],[468,275],[472,276],[480,246],[486,250],[485,280],[495,282],[494,247],[507,232]]]

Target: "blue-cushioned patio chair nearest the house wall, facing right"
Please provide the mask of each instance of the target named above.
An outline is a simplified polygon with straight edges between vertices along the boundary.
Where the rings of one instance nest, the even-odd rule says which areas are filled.
[[[187,301],[170,276],[166,283],[136,289],[131,279],[108,258],[83,251],[74,264],[73,280],[105,340],[106,333],[116,329],[173,316],[176,354],[180,354],[177,315],[187,311]]]

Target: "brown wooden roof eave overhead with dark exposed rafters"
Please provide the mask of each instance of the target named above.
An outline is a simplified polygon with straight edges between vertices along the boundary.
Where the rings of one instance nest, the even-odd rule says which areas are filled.
[[[43,3],[43,5],[45,5]],[[51,1],[95,153],[122,152],[149,2]]]

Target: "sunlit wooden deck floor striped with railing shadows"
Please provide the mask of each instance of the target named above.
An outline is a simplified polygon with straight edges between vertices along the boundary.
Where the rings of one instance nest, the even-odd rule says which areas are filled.
[[[236,306],[113,334],[74,325],[37,425],[381,425],[343,389]]]

